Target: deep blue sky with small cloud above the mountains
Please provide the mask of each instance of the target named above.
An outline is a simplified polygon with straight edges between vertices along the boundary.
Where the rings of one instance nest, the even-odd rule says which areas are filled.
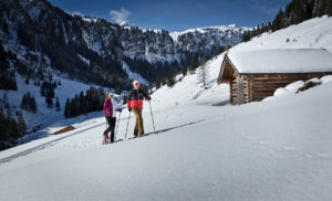
[[[49,0],[68,11],[169,32],[271,21],[290,0]]]

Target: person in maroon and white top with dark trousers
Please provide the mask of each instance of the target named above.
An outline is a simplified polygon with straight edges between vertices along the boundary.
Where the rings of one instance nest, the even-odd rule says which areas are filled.
[[[116,112],[122,112],[116,100],[113,98],[114,94],[108,91],[104,102],[104,116],[107,120],[108,127],[104,131],[104,139],[110,139],[108,133],[111,131],[111,142],[114,142],[114,128],[116,123]]]

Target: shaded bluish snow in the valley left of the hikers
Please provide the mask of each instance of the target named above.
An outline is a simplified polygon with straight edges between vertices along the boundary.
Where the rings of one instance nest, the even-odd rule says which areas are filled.
[[[65,119],[63,116],[64,106],[66,98],[73,98],[80,92],[85,92],[91,86],[98,87],[95,85],[86,85],[76,81],[71,81],[68,78],[63,78],[64,76],[59,76],[53,74],[53,81],[61,81],[61,85],[54,89],[55,97],[59,97],[60,103],[60,112],[56,112],[55,107],[48,107],[45,103],[45,97],[41,96],[40,86],[35,86],[33,81],[30,80],[30,84],[25,84],[25,80],[20,75],[17,75],[17,85],[18,91],[2,91],[0,89],[0,97],[6,93],[9,99],[9,105],[12,108],[12,113],[15,110],[22,110],[25,124],[28,126],[28,130],[32,130],[33,127],[39,126],[41,130],[27,135],[23,141],[30,141],[31,139],[37,139],[40,137],[49,136],[54,130],[59,129],[59,127],[68,126],[69,124],[74,124],[77,120],[84,119],[84,117],[73,118],[71,120]],[[30,92],[32,96],[34,96],[38,112],[35,114],[23,110],[20,108],[23,95]],[[55,98],[53,98],[53,104],[55,105]],[[92,115],[93,116],[93,115]],[[86,117],[85,117],[86,118]]]

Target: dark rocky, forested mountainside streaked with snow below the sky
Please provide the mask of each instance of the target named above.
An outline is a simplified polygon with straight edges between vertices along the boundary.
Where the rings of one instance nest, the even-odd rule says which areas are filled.
[[[0,7],[0,42],[33,68],[43,60],[52,68],[71,77],[100,85],[129,86],[128,74],[138,73],[147,81],[164,76],[187,65],[194,54],[216,54],[225,41],[235,45],[241,39],[240,28],[225,31],[230,39],[206,39],[204,35],[176,43],[167,31],[143,30],[120,25],[103,19],[69,14],[46,0],[4,0]],[[231,34],[230,34],[231,33]],[[187,36],[186,36],[187,38]],[[191,41],[193,40],[193,41]],[[187,43],[214,43],[188,49]]]

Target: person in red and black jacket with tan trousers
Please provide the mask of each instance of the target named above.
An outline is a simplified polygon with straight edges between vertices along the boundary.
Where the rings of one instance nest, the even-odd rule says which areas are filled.
[[[151,97],[146,95],[146,93],[139,88],[139,82],[133,82],[134,89],[131,92],[127,100],[128,110],[135,114],[136,116],[136,124],[134,129],[134,137],[139,137],[144,135],[144,127],[143,127],[143,118],[142,118],[142,109],[143,109],[143,100],[151,100]]]

